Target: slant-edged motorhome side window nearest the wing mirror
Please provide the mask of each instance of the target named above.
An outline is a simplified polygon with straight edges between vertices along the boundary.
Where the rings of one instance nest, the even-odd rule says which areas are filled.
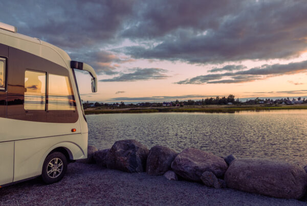
[[[76,102],[67,76],[48,75],[48,110],[75,110]]]

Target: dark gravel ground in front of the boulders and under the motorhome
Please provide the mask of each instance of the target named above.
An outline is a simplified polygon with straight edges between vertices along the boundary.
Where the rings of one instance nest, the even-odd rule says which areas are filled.
[[[39,178],[0,189],[1,205],[306,205],[196,182],[171,181],[73,163],[64,178],[43,185]]]

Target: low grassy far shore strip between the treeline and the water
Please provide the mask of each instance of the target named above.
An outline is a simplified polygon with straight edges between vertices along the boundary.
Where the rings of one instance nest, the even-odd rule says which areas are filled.
[[[206,105],[206,106],[185,106],[185,107],[134,107],[134,108],[88,108],[85,115],[98,115],[107,113],[157,113],[157,112],[226,112],[236,111],[261,111],[280,109],[307,109],[307,104],[296,105]]]

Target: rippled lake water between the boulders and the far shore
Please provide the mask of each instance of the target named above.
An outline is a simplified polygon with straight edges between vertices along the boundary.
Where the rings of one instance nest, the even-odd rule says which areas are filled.
[[[307,110],[235,113],[137,113],[86,116],[89,144],[134,139],[148,149],[187,147],[218,156],[270,157],[307,165]]]

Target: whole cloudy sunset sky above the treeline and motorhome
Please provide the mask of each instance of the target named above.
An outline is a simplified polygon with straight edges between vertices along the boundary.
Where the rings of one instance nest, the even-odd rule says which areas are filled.
[[[305,1],[0,0],[0,21],[94,67],[83,101],[306,97]]]

